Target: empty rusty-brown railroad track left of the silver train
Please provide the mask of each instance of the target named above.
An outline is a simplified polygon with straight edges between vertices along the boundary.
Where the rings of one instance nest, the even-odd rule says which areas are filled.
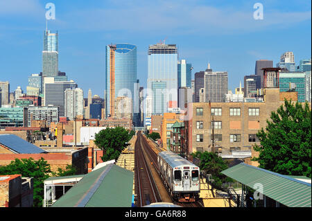
[[[161,202],[157,186],[146,161],[146,152],[142,149],[142,138],[137,137],[135,143],[135,176],[137,183],[137,206],[146,206],[154,202]]]

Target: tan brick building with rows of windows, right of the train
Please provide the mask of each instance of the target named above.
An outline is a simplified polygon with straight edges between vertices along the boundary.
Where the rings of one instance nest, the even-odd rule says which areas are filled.
[[[265,102],[190,103],[184,118],[188,153],[211,151],[213,141],[216,150],[223,154],[252,150],[254,143],[259,144],[256,134],[266,128],[271,112],[284,104],[284,98],[296,101],[295,93],[280,94],[279,88],[267,88]]]

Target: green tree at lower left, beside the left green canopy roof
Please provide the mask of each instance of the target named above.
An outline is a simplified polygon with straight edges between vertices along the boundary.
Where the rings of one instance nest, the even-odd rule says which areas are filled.
[[[15,159],[7,166],[0,166],[0,175],[20,174],[22,177],[33,177],[33,206],[41,207],[44,197],[44,180],[49,178],[51,167],[41,158],[38,161]]]

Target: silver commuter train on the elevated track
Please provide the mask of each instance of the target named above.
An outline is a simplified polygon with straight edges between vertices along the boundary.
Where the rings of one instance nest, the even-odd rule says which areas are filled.
[[[160,177],[174,200],[196,202],[200,193],[200,168],[171,151],[159,152]]]

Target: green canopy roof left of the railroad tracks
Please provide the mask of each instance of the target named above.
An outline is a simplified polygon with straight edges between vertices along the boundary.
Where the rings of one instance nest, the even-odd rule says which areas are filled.
[[[111,163],[83,177],[52,207],[130,207],[133,176]]]

